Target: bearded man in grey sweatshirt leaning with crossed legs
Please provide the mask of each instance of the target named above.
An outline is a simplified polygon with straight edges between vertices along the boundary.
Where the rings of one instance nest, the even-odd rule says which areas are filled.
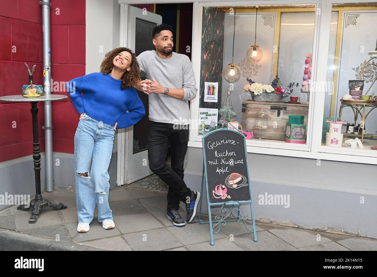
[[[144,51],[136,60],[148,79],[135,89],[148,94],[149,120],[148,159],[150,169],[169,185],[167,218],[174,226],[185,225],[178,213],[179,200],[185,202],[188,223],[195,218],[200,193],[187,188],[183,181],[183,162],[189,142],[190,110],[198,88],[189,57],[172,51],[173,28],[160,24],[152,31],[156,50]],[[170,141],[172,167],[166,164]]]

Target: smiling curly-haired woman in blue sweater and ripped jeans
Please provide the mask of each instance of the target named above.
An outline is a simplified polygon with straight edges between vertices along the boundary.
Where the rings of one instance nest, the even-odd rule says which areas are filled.
[[[78,232],[89,231],[96,204],[102,227],[115,227],[108,201],[107,172],[115,129],[132,126],[145,115],[143,103],[133,88],[141,81],[135,54],[125,47],[113,49],[105,55],[100,69],[101,72],[67,84],[70,99],[80,114],[74,154]]]

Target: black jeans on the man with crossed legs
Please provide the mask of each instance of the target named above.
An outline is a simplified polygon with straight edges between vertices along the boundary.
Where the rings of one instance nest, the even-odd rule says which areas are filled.
[[[173,128],[173,126],[183,126],[185,129]],[[171,147],[171,168],[165,161],[168,141],[170,141]],[[189,125],[174,125],[151,121],[148,136],[149,168],[169,185],[169,192],[167,193],[168,209],[178,210],[179,200],[185,202],[191,191],[183,181],[183,162],[188,142]]]

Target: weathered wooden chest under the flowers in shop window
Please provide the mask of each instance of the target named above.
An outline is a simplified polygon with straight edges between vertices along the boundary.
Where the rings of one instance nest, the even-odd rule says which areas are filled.
[[[264,107],[264,110],[270,115],[268,128],[262,129],[262,138],[264,139],[285,141],[286,126],[289,121],[288,115],[304,115],[304,124],[308,124],[309,104],[307,103],[294,104],[285,102],[257,102],[253,100],[242,101],[241,125],[245,130],[252,130],[254,138],[259,137],[259,129],[254,128],[254,121],[255,113],[259,111],[261,107]]]

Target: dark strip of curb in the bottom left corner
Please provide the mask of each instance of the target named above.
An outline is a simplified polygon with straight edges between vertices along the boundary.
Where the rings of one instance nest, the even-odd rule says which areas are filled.
[[[102,251],[72,242],[55,241],[0,228],[0,251]]]

